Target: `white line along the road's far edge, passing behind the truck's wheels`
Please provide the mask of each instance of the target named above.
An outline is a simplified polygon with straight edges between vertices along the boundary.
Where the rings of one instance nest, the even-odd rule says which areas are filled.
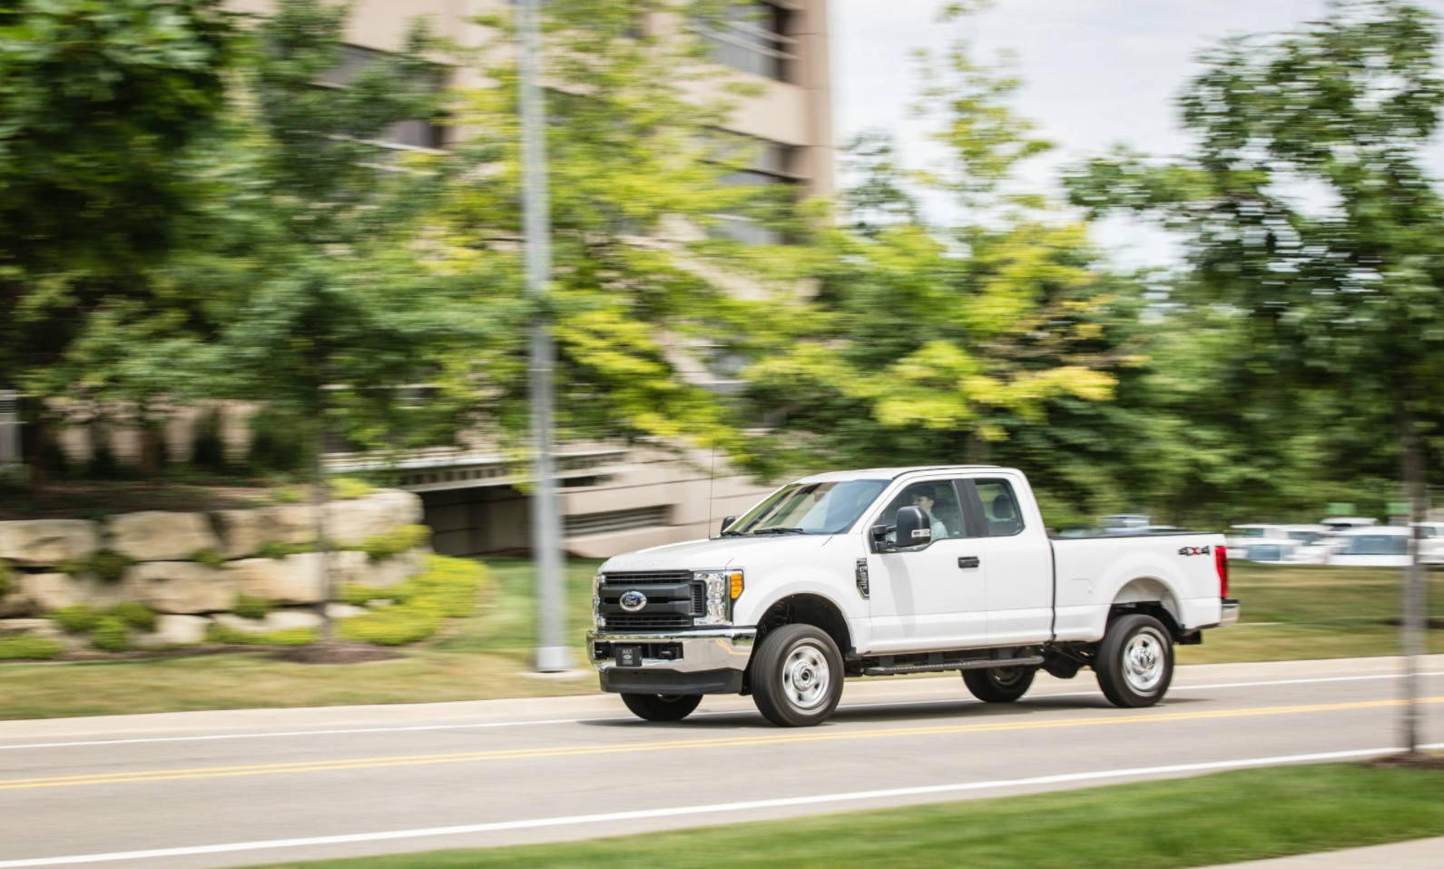
[[[1444,670],[1421,673],[1421,677],[1430,676],[1444,676]],[[1171,686],[1170,691],[1199,691],[1212,689],[1252,689],[1264,686],[1284,686],[1284,684],[1315,684],[1327,681],[1369,681],[1379,678],[1402,678],[1399,673],[1378,673],[1370,676],[1326,676],[1317,678],[1279,678],[1272,681],[1227,681],[1214,684],[1175,684]],[[1030,699],[1043,697],[1092,697],[1097,696],[1097,691],[1050,691],[1043,694],[1031,694]],[[839,712],[848,712],[855,709],[875,709],[885,706],[927,706],[933,703],[973,703],[972,697],[959,694],[957,697],[939,697],[933,700],[875,700],[872,703],[845,703],[839,706]],[[752,715],[749,709],[718,709],[713,712],[699,712],[692,717],[715,717],[715,716],[738,716],[738,715]],[[634,716],[601,716],[601,717],[554,717],[554,719],[533,719],[533,720],[517,720],[517,722],[475,722],[475,723],[455,723],[455,725],[416,725],[406,728],[348,728],[335,730],[277,730],[269,733],[209,733],[204,736],[144,736],[136,739],[85,739],[75,742],[25,742],[17,745],[0,745],[0,751],[17,751],[26,748],[79,748],[87,745],[139,745],[149,742],[212,742],[219,739],[269,739],[276,736],[336,736],[349,733],[410,733],[422,730],[475,730],[482,728],[533,728],[544,725],[580,725],[580,723],[601,723],[601,722],[631,722],[635,720]]]

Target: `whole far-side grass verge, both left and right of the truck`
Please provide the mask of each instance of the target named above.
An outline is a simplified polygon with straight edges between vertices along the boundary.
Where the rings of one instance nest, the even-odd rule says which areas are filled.
[[[139,661],[7,663],[0,665],[0,719],[250,709],[426,703],[586,694],[592,677],[543,680],[529,673],[536,641],[531,563],[487,559],[491,592],[479,615],[446,622],[436,638],[403,647],[396,661],[313,667],[264,652]],[[598,562],[566,566],[566,638],[585,667],[592,573]],[[1431,606],[1444,616],[1444,573],[1431,575]],[[1347,567],[1265,569],[1236,564],[1233,593],[1243,622],[1209,631],[1203,645],[1178,648],[1184,664],[1386,655],[1398,650],[1399,572]],[[1258,622],[1282,622],[1259,625]],[[1431,631],[1444,652],[1444,631]],[[1083,674],[1083,681],[1092,678]]]

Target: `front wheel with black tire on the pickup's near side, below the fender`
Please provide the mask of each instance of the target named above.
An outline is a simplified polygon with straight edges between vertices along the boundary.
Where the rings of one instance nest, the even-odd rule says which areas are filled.
[[[752,652],[752,700],[780,728],[810,728],[827,720],[842,700],[843,677],[838,644],[812,625],[775,628]]]

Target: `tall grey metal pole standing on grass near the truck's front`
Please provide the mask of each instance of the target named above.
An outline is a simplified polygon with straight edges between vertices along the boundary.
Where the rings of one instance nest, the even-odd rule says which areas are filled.
[[[537,570],[537,670],[557,673],[572,665],[565,641],[566,605],[562,586],[562,534],[552,468],[552,329],[547,281],[552,273],[552,217],[546,189],[546,107],[542,102],[537,35],[540,0],[517,3],[521,36],[521,173],[526,215],[527,294],[536,303],[531,320],[531,443],[536,449],[531,498],[531,553]]]

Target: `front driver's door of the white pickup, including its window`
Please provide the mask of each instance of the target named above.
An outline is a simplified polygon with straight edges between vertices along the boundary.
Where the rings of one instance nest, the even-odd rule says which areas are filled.
[[[869,525],[897,524],[897,511],[931,517],[933,541],[868,556],[871,651],[921,651],[985,645],[986,598],[978,569],[982,543],[965,537],[959,491],[950,479],[904,486]]]

